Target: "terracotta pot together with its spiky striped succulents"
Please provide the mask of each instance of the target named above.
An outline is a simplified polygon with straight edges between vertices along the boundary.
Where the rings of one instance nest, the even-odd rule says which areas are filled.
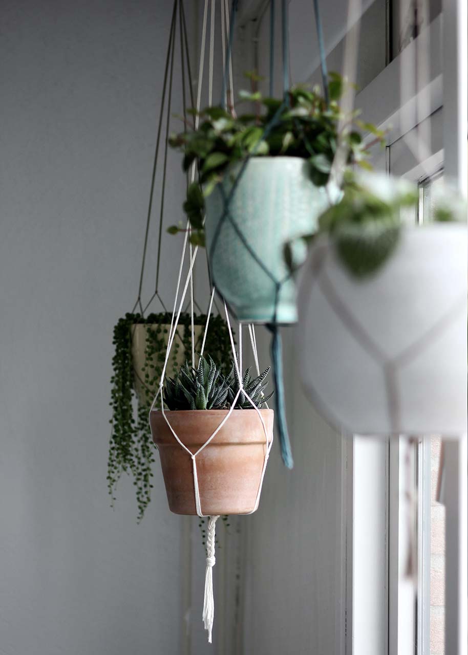
[[[166,379],[163,398],[168,411],[150,413],[169,508],[176,514],[197,514],[195,460],[203,514],[256,510],[273,431],[273,411],[266,403],[273,394],[264,394],[269,368],[254,379],[247,369],[242,381],[236,371],[231,362],[225,374],[210,356],[201,358],[196,369],[186,362]],[[245,393],[239,391],[241,382]]]

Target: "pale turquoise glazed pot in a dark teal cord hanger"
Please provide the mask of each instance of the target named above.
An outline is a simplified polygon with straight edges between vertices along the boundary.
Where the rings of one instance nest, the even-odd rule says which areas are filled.
[[[284,263],[283,247],[315,229],[329,204],[326,190],[313,185],[306,160],[252,157],[229,202],[236,229],[222,216],[224,196],[231,193],[241,166],[229,168],[205,199],[212,282],[237,320],[294,323],[296,287]],[[294,261],[301,263],[306,255],[305,246],[296,244]]]

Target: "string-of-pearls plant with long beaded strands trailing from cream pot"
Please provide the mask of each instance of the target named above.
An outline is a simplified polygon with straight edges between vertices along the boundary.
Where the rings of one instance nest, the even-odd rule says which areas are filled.
[[[115,501],[115,487],[123,473],[132,476],[136,487],[138,504],[138,521],[151,500],[153,485],[152,466],[154,462],[153,441],[148,424],[148,412],[153,402],[154,389],[159,386],[166,357],[168,329],[171,314],[126,314],[120,318],[114,328],[113,345],[115,354],[112,360],[111,378],[112,417],[109,458],[107,464],[107,487],[111,503]],[[206,316],[196,315],[195,325],[205,326]],[[134,388],[134,365],[132,362],[132,335],[136,324],[146,325],[144,397],[137,398]],[[211,316],[206,333],[206,348],[222,362],[229,362],[231,342],[227,324],[220,316]],[[184,359],[191,358],[191,318],[181,314],[178,332],[172,349],[166,372],[174,375],[178,369],[180,354]],[[223,373],[229,371],[223,369]]]

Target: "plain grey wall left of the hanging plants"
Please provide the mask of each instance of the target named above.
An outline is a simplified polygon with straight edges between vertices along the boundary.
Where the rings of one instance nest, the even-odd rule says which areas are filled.
[[[130,481],[114,512],[106,489],[112,329],[136,299],[171,5],[1,3],[2,655],[179,652],[161,476],[141,525]],[[177,157],[169,170],[172,223]],[[167,238],[166,301],[179,253]]]

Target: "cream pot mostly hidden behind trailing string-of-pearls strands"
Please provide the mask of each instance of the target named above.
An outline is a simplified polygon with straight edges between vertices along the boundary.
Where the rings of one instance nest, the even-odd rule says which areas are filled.
[[[143,367],[146,363],[146,358],[145,358],[145,348],[146,348],[146,333],[148,329],[151,330],[157,330],[158,327],[161,327],[163,332],[161,333],[161,336],[164,337],[164,352],[163,356],[166,355],[166,348],[169,340],[169,333],[170,333],[170,325],[158,325],[157,323],[153,323],[151,325],[147,325],[144,323],[136,323],[132,326],[132,362],[133,362],[133,371],[134,371],[134,386],[135,386],[135,391],[138,396],[138,400],[140,400],[140,403],[151,403],[153,398],[156,395],[157,392],[157,386],[159,384],[159,380],[155,384],[149,384],[147,385],[145,383],[145,371],[143,370]],[[173,377],[176,374],[176,371],[180,369],[182,365],[185,363],[185,351],[184,351],[184,346],[182,345],[184,343],[183,337],[184,337],[184,326],[178,326],[177,327],[177,334],[176,337],[174,338],[174,341],[172,343],[172,349],[171,349],[171,354],[169,358],[169,362],[167,365],[167,370],[166,370],[166,375],[169,375],[170,377]],[[195,352],[197,350],[200,350],[201,342],[203,340],[203,332],[205,331],[205,326],[194,326],[194,333],[195,333]],[[166,332],[164,331],[166,330]],[[176,343],[176,340],[180,346],[177,355],[174,357],[174,344]],[[149,376],[151,378],[154,377],[155,373],[155,364],[159,364],[160,366],[164,364],[163,362],[158,362],[157,357],[159,353],[155,353],[153,358],[151,358],[151,362],[149,362],[149,367],[147,370],[147,373],[149,373]],[[195,363],[197,363],[198,358]]]

